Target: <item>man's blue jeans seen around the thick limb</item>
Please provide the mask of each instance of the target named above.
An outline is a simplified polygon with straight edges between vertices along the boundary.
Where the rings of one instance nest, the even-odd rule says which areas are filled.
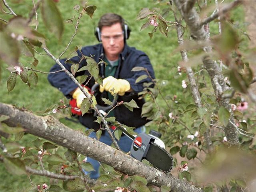
[[[138,127],[134,130],[136,133],[141,133],[141,132],[145,132],[145,126],[141,126]],[[89,137],[91,138],[96,138],[96,132],[92,132],[90,133]],[[111,145],[112,144],[112,140],[110,139],[110,136],[108,134],[107,131],[104,132],[104,134],[101,135],[100,137],[100,142],[105,143],[107,145]],[[129,152],[131,145],[132,145],[132,140],[130,138],[128,138],[128,136],[126,135],[122,135],[122,137],[120,138],[119,141],[117,141],[120,149],[124,152]],[[87,157],[87,162],[89,162],[90,164],[92,164],[92,166],[94,167],[95,171],[90,171],[90,172],[86,172],[86,174],[89,174],[90,178],[92,179],[98,179],[100,176],[99,173],[99,168],[100,168],[100,164],[97,160],[94,160],[90,157]]]

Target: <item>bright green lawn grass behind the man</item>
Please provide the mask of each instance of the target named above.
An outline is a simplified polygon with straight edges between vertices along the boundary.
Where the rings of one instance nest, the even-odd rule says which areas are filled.
[[[182,74],[179,76],[177,74],[177,66],[179,65],[179,61],[181,60],[181,56],[179,53],[171,55],[171,53],[178,47],[176,30],[173,27],[168,32],[168,38],[160,34],[158,31],[154,34],[152,40],[148,36],[148,33],[153,29],[152,26],[149,28],[140,31],[140,28],[146,20],[138,21],[136,17],[141,8],[153,8],[160,7],[160,4],[157,4],[158,1],[149,1],[149,0],[93,0],[90,1],[90,5],[97,6],[96,12],[92,19],[88,15],[84,15],[80,20],[80,26],[78,32],[68,49],[68,51],[64,54],[64,57],[68,56],[70,52],[74,50],[75,46],[86,46],[91,44],[96,44],[98,41],[94,36],[94,28],[96,27],[100,16],[107,12],[115,12],[124,17],[124,19],[128,22],[128,25],[132,29],[132,33],[130,39],[127,41],[129,46],[134,46],[139,50],[142,50],[148,54],[152,65],[155,70],[156,78],[161,82],[165,80],[167,82],[167,86],[162,87],[163,94],[170,95],[173,97],[174,95],[178,96],[178,100],[180,102],[190,103],[192,102],[191,98],[186,97],[188,95],[188,91],[184,90],[181,87],[182,80],[186,80],[186,74]],[[57,6],[62,13],[63,19],[72,18],[74,15],[77,17],[78,13],[73,10],[73,7],[76,4],[79,4],[78,0],[60,0],[57,3]],[[15,0],[8,1],[8,4],[12,7],[16,14],[28,16],[33,4],[32,1],[24,0],[20,3],[17,3]],[[162,8],[162,7],[161,7]],[[40,16],[40,9],[38,10],[39,22],[40,25],[38,27],[39,32],[46,34],[46,38],[48,41],[46,42],[48,49],[54,56],[59,56],[60,53],[64,50],[72,34],[74,33],[74,25],[65,24],[65,30],[63,37],[60,41],[56,39],[54,34],[47,32],[44,24],[42,23],[42,19]],[[172,16],[170,16],[172,17]],[[0,13],[0,18],[4,18],[8,20],[11,18],[10,15],[6,15]],[[214,28],[212,29],[214,32],[216,31],[217,26],[214,24]],[[186,37],[188,34],[186,32]],[[43,50],[37,48],[38,52],[44,53]],[[39,64],[37,66],[37,70],[41,70],[44,72],[48,72],[50,68],[54,65],[54,61],[48,56],[42,56],[36,54],[35,57],[38,59]],[[33,58],[20,58],[20,62],[24,66],[30,66],[28,60],[32,62]],[[10,72],[6,70],[7,64],[2,63],[1,65],[1,79],[0,79],[0,102],[7,104],[14,104],[19,107],[26,107],[28,110],[32,112],[40,114],[46,108],[58,102],[63,95],[56,88],[50,86],[47,75],[37,73],[39,77],[39,81],[36,87],[29,88],[26,84],[24,84],[20,78],[17,78],[17,83],[10,93],[8,93],[6,87],[6,81]],[[158,97],[157,101],[160,106],[165,106],[166,104],[163,100]],[[178,108],[178,104],[173,104],[174,107]],[[179,106],[180,107],[180,106]],[[66,124],[67,126],[83,130],[84,127],[80,124],[72,123],[65,119],[62,119],[61,122]],[[31,140],[35,140],[35,136],[25,135],[20,143],[29,143]],[[11,138],[14,140],[14,138]],[[6,140],[3,140],[5,142]],[[43,184],[44,182],[49,183],[48,178],[39,177],[39,176],[31,176],[31,179],[34,184]],[[27,176],[16,176],[11,175],[4,168],[3,164],[0,164],[0,191],[1,192],[15,192],[21,191],[24,188],[30,186],[30,181]]]

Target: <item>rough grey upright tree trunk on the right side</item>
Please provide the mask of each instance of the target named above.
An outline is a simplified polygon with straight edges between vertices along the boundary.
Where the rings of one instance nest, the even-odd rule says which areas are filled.
[[[239,3],[240,1],[237,2]],[[188,25],[188,28],[190,29],[192,38],[198,41],[206,41],[207,34],[204,30],[204,26],[200,22],[201,19],[198,13],[196,12],[195,8],[191,8],[188,10],[186,8],[186,3],[186,0],[174,0],[174,4],[180,11],[186,24]],[[238,3],[236,3],[236,5]],[[205,47],[204,50],[206,50],[206,52],[211,52],[212,48]],[[236,127],[234,126],[233,112],[231,110],[229,99],[222,98],[223,92],[228,88],[224,82],[224,77],[220,71],[220,67],[218,66],[216,61],[211,60],[208,56],[205,56],[202,60],[211,78],[212,86],[214,88],[219,106],[224,106],[224,108],[226,108],[230,112],[229,123],[227,126],[224,127],[224,132],[226,134],[227,140],[232,145],[237,144],[239,142],[238,132],[236,130]]]

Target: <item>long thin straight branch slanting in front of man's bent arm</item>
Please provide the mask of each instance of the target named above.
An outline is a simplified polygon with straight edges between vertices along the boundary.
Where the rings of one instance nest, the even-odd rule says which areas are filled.
[[[76,80],[76,78],[62,65],[62,63],[60,62],[60,60],[58,60],[57,58],[55,58],[50,51],[47,48],[43,48],[43,50],[48,54],[48,56],[50,56],[50,58],[52,58],[59,66],[60,68],[63,69],[63,71],[74,81],[74,83],[80,88],[80,90],[84,93],[84,95],[86,96],[86,98],[89,98],[89,102],[92,106],[92,108],[94,108],[94,110],[96,111],[96,113],[98,114],[98,116],[100,116],[102,118],[102,122],[104,124],[104,127],[106,128],[106,130],[108,130],[108,134],[114,144],[114,146],[116,147],[117,150],[120,150],[120,147],[118,146],[114,136],[112,135],[110,128],[108,127],[108,122],[106,122],[105,118],[102,116],[102,114],[100,113],[100,111],[98,110],[98,108],[96,106],[93,106],[93,101],[90,98],[90,94],[88,94],[84,88],[81,86],[81,84]]]

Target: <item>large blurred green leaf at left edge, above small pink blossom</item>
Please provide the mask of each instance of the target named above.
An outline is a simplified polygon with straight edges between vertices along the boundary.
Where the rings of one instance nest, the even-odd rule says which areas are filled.
[[[8,65],[17,66],[20,57],[20,48],[17,40],[0,31],[0,42],[0,58]]]

